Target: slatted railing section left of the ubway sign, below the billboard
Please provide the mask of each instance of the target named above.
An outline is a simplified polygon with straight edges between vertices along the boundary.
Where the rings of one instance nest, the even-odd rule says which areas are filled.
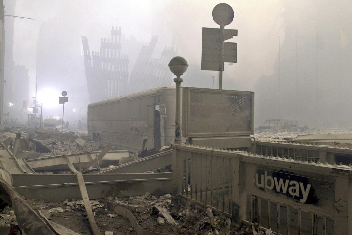
[[[182,196],[231,214],[232,159],[212,153],[183,153]]]

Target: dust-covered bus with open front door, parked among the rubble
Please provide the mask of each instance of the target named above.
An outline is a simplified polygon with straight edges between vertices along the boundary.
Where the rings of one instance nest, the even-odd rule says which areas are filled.
[[[175,138],[175,105],[175,86],[89,104],[88,135],[131,152],[169,146]]]

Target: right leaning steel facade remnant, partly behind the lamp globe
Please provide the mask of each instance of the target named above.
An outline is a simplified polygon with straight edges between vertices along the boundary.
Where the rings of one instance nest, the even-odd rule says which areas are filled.
[[[152,58],[157,42],[158,36],[153,36],[149,46],[142,46],[136,64],[133,67],[126,94],[172,85],[172,73],[168,63],[171,58],[177,55],[177,49],[174,46],[165,47],[159,60]]]

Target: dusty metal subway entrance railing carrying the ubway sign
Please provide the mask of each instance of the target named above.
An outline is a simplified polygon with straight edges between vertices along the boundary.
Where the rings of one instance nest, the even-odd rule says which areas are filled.
[[[321,149],[314,153],[312,149],[295,150],[295,154],[279,146],[257,145],[257,149],[272,151],[269,153],[274,157],[184,144],[173,147],[173,186],[178,198],[212,208],[237,222],[257,223],[276,234],[352,234],[352,231],[347,233],[348,204],[345,204],[348,201],[346,190],[352,184],[352,166],[320,163]],[[319,203],[305,203],[307,198],[302,200],[302,194],[296,198],[290,196],[287,186],[285,192],[272,187],[260,188],[260,184],[264,185],[263,178],[259,179],[260,183],[254,179],[260,170],[271,172],[271,177],[281,174],[282,186],[284,182],[291,185],[291,180],[310,180],[309,184],[315,187],[314,198],[324,198]],[[278,184],[280,177],[276,177]],[[299,182],[297,185],[302,184],[301,188],[308,190],[307,182]],[[315,196],[315,192],[319,195]]]

